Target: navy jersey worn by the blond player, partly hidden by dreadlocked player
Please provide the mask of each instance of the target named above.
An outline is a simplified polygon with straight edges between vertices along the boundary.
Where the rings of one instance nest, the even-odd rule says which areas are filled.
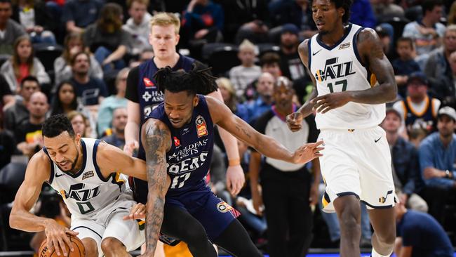
[[[173,71],[182,69],[188,72],[189,70],[192,70],[194,62],[194,59],[180,55],[179,60],[177,60],[176,65],[173,67]],[[159,91],[154,79],[154,75],[158,70],[159,68],[156,67],[154,58],[143,62],[139,66],[138,99],[140,100],[141,125],[144,124],[145,118],[149,116],[152,110],[154,110],[159,103],[163,102],[163,92]],[[141,135],[139,143],[138,158],[145,159],[146,155],[144,148],[142,147]]]

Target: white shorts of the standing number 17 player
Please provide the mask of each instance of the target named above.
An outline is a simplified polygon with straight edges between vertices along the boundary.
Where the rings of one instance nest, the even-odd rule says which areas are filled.
[[[337,197],[355,195],[368,209],[394,206],[396,194],[387,136],[380,126],[369,129],[322,129],[318,140],[326,184],[323,211],[334,212]]]

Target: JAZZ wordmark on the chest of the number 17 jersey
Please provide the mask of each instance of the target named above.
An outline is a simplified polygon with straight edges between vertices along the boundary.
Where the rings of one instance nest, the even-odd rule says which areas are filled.
[[[338,79],[355,74],[353,70],[353,61],[338,62],[339,58],[330,58],[326,60],[323,70],[317,70],[314,74],[316,81],[323,82],[328,79]]]

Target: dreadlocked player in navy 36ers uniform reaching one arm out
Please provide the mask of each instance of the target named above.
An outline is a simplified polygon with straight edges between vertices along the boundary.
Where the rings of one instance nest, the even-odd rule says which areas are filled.
[[[155,79],[165,100],[152,111],[141,132],[149,183],[146,253],[154,253],[161,228],[164,234],[187,242],[194,256],[217,256],[208,239],[234,256],[262,256],[236,220],[237,211],[215,197],[203,181],[212,154],[213,126],[221,126],[267,157],[292,163],[320,157],[323,147],[318,146],[323,142],[290,152],[274,138],[258,133],[224,103],[196,94],[215,88],[215,78],[204,70],[172,72],[166,67]],[[172,180],[169,190],[167,172]]]

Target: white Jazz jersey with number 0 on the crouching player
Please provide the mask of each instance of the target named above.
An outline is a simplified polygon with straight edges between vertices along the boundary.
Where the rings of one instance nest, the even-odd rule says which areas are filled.
[[[113,172],[107,179],[103,178],[96,161],[99,143],[100,140],[93,138],[81,139],[82,166],[75,174],[60,170],[51,161],[48,184],[62,196],[72,216],[95,216],[121,194],[128,194],[123,174]],[[46,147],[43,151],[48,154]]]

